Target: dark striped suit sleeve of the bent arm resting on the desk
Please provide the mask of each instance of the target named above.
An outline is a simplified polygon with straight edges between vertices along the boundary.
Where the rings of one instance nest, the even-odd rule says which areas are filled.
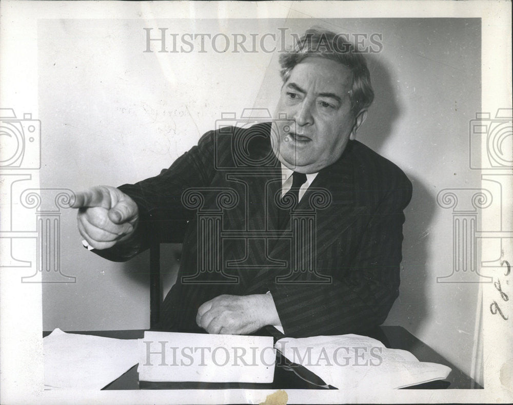
[[[269,285],[287,336],[359,333],[383,323],[399,295],[403,209],[411,198],[411,183],[403,183],[382,199],[351,265],[332,269],[330,284]]]

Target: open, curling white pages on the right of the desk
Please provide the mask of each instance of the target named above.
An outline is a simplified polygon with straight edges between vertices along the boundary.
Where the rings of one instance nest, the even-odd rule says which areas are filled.
[[[405,388],[447,378],[451,371],[360,335],[283,338],[275,347],[291,362],[339,389]]]

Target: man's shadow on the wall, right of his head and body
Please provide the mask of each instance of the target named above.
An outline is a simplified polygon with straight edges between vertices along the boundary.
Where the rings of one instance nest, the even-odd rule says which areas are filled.
[[[394,136],[395,122],[404,108],[395,89],[396,82],[390,75],[393,68],[374,55],[366,55],[366,58],[374,88],[374,102],[357,139],[379,153],[387,140]],[[393,161],[394,157],[390,159]],[[406,175],[412,183],[413,195],[404,212],[406,221],[403,225],[400,294],[386,323],[404,326],[415,334],[428,320],[427,242],[436,200],[420,179],[409,173]]]

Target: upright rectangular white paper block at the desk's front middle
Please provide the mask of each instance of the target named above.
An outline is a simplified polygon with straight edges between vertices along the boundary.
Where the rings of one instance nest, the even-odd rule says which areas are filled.
[[[145,332],[140,381],[257,382],[273,380],[272,337]]]

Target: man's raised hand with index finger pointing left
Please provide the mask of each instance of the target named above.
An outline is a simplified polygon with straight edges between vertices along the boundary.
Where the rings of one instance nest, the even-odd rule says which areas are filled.
[[[128,239],[137,227],[137,204],[115,187],[97,186],[77,192],[69,205],[78,208],[78,230],[95,249],[108,249]]]

